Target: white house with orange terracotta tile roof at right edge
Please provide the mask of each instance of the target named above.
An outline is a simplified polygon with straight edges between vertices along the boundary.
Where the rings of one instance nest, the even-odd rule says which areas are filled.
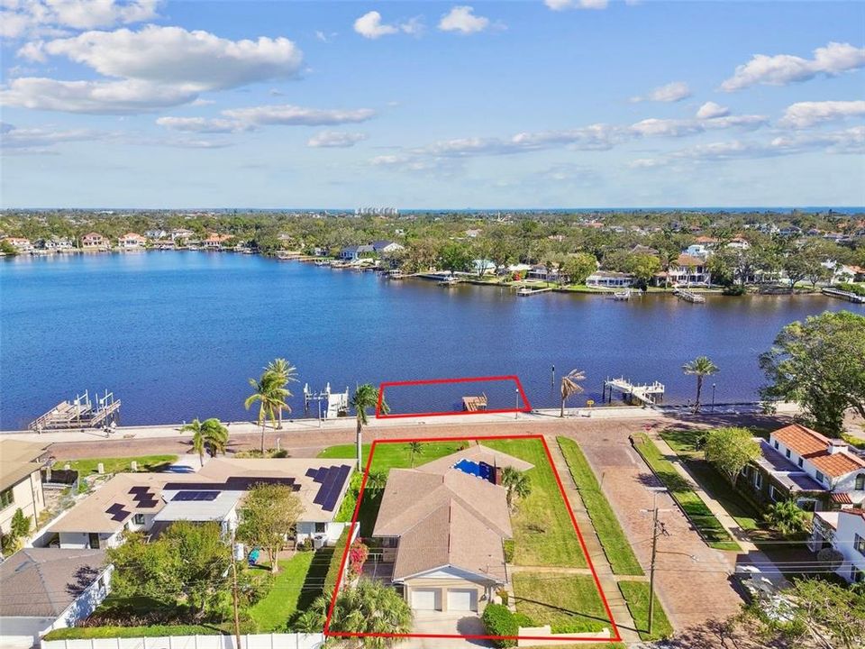
[[[737,483],[760,504],[792,498],[803,509],[823,511],[865,503],[865,460],[842,440],[793,424],[761,441],[760,451]]]

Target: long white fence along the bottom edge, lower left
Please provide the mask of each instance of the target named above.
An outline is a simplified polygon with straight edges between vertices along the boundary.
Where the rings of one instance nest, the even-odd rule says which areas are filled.
[[[324,635],[241,635],[240,649],[320,649]],[[41,649],[238,649],[233,635],[169,635],[166,637],[42,640]]]

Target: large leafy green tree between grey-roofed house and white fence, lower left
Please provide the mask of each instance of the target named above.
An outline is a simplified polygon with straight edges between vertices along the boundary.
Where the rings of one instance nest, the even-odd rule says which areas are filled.
[[[188,607],[203,619],[228,590],[231,546],[217,523],[178,521],[150,543],[141,533],[106,551],[114,565],[112,590],[120,598],[146,597],[167,607]]]

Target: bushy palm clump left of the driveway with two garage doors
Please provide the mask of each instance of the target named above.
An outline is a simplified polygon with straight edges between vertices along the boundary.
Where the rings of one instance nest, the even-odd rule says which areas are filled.
[[[296,621],[297,630],[320,632],[331,606],[330,593],[314,600]],[[337,595],[330,629],[346,633],[365,634],[359,638],[364,649],[385,649],[399,638],[387,634],[406,634],[412,628],[412,609],[393,588],[380,581],[360,578],[357,586],[345,588]],[[376,634],[376,635],[369,635]]]

